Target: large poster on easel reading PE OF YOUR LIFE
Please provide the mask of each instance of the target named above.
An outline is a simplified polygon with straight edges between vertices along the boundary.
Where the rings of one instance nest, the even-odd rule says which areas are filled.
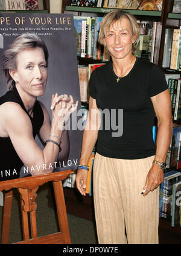
[[[33,47],[31,42],[27,47],[33,36],[35,41],[43,41],[45,46],[35,44]],[[76,169],[80,160],[83,126],[73,16],[1,13],[0,41],[0,181],[39,175],[42,171],[44,174]],[[14,54],[13,58],[10,53]],[[4,62],[9,64],[5,66]],[[12,94],[12,91],[15,92]],[[10,92],[10,98],[4,99],[7,92]],[[46,152],[45,162],[37,158],[40,154],[41,159],[47,140],[59,144],[59,136],[51,134],[52,130],[47,125],[50,120],[52,128],[52,95],[63,97],[59,100],[65,100],[69,110],[74,108],[60,128],[62,151],[53,163],[47,160],[52,152]],[[33,101],[35,97],[38,103]]]

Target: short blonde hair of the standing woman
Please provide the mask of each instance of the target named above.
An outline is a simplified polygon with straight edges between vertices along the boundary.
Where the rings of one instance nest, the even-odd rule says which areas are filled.
[[[104,38],[106,36],[106,31],[109,30],[110,25],[112,25],[114,22],[121,20],[123,17],[128,18],[130,21],[130,25],[132,28],[132,33],[136,36],[136,41],[139,38],[139,25],[136,21],[135,16],[131,15],[127,11],[122,10],[113,10],[110,11],[110,13],[107,13],[107,15],[104,16],[103,21],[100,25],[100,33],[98,37],[98,42],[102,45],[104,45]],[[132,53],[135,53],[136,47],[136,41],[132,44]],[[105,45],[104,45],[105,46]]]

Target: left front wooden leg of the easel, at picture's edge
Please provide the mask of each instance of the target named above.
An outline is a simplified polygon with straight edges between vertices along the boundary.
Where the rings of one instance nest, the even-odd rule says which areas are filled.
[[[4,191],[4,209],[3,209],[3,217],[2,217],[1,243],[9,242],[12,200],[13,200],[13,189],[7,192]]]

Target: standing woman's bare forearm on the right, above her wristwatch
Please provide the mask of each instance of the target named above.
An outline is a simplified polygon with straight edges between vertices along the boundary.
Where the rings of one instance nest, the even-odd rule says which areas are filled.
[[[157,126],[156,156],[155,160],[165,162],[172,136],[172,120],[160,122]]]

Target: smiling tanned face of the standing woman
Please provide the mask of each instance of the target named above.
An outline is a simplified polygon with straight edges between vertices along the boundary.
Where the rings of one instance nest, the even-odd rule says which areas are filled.
[[[132,44],[135,42],[136,36],[132,32],[130,21],[126,17],[115,21],[106,31],[103,39],[107,50],[112,58],[123,59],[132,55]]]

